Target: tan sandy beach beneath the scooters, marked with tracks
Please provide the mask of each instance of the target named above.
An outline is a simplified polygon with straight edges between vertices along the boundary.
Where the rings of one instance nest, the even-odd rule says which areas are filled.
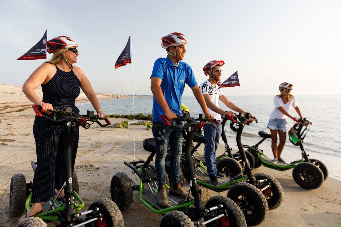
[[[36,93],[42,96],[41,89]],[[32,103],[26,98],[21,87],[0,84],[0,226],[15,226],[19,217],[9,216],[10,181],[14,174],[22,173],[26,181],[33,180],[30,162],[36,161],[35,142],[32,133],[34,112]],[[107,96],[99,96],[107,99]],[[76,99],[87,101],[84,93]],[[105,112],[105,110],[104,110]],[[111,113],[110,113],[111,114]],[[109,119],[118,123],[126,119]],[[90,129],[80,128],[79,147],[75,163],[79,181],[79,195],[88,208],[98,198],[110,198],[110,181],[116,172],[125,172],[135,183],[136,174],[123,161],[133,160],[133,130],[101,128],[96,124]],[[135,159],[146,159],[142,142],[151,138],[152,132],[146,126],[135,126]],[[199,150],[203,150],[200,146]],[[233,146],[235,147],[235,146]],[[218,154],[224,150],[219,146]],[[328,166],[328,163],[326,163]],[[328,178],[320,188],[306,190],[300,188],[292,178],[291,170],[274,171],[265,167],[254,173],[267,173],[275,177],[284,190],[284,201],[276,209],[269,211],[260,226],[341,226],[341,182]],[[206,202],[213,195],[226,195],[202,188]],[[133,192],[133,203],[122,213],[125,226],[159,226],[162,216],[154,214],[138,200],[138,192]]]

